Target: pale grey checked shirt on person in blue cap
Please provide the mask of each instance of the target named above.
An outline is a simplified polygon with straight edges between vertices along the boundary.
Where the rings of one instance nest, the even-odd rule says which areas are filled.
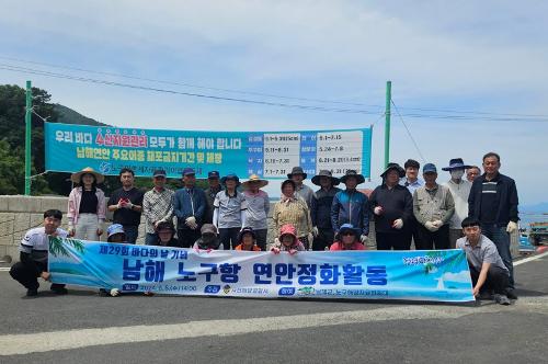
[[[142,214],[147,220],[145,231],[155,234],[156,221],[171,221],[173,217],[173,195],[175,192],[169,189],[158,191],[152,189],[145,193],[142,198]]]

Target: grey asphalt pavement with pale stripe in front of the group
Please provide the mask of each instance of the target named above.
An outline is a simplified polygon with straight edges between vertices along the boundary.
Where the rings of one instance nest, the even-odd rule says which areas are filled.
[[[515,271],[520,299],[507,307],[84,289],[27,299],[0,272],[0,362],[548,363],[548,255]]]

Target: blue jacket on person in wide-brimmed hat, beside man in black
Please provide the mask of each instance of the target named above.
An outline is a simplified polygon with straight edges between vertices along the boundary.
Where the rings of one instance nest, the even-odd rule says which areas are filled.
[[[362,192],[344,190],[333,197],[331,225],[335,234],[343,224],[352,224],[362,235],[369,235],[369,202]]]

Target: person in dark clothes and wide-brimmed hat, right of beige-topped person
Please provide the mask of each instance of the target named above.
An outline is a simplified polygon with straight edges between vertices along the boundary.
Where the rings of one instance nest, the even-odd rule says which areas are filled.
[[[310,206],[310,218],[313,226],[312,250],[326,250],[335,239],[333,225],[331,224],[331,206],[333,205],[333,197],[341,191],[341,189],[335,187],[340,181],[330,171],[323,170],[312,177],[312,183],[320,186],[313,193]]]

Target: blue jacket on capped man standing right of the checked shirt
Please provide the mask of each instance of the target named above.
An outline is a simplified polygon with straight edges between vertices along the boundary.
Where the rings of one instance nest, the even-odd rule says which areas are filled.
[[[207,200],[202,189],[194,187],[190,192],[183,187],[175,191],[173,196],[173,213],[178,217],[178,228],[186,229],[184,221],[194,216],[198,225],[204,224],[207,212]]]

